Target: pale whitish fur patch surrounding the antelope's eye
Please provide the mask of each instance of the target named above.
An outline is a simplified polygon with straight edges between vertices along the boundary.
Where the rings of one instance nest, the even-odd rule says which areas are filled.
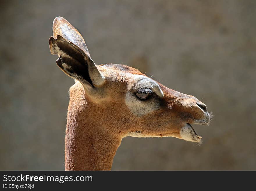
[[[159,87],[158,83],[154,80],[148,78],[147,76],[142,76],[138,74],[132,74],[134,79],[131,84],[128,85],[128,92],[125,96],[125,103],[131,112],[137,116],[147,115],[153,111],[160,108],[159,98],[152,97],[148,100],[140,100],[134,94],[136,91],[142,88],[149,88],[157,94],[160,98],[163,97],[163,91]]]

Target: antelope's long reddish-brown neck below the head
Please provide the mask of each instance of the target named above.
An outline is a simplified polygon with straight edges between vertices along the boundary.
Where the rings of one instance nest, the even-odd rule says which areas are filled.
[[[78,98],[76,98],[78,97]],[[111,170],[121,139],[97,123],[85,97],[72,95],[67,113],[65,170]],[[96,115],[97,116],[97,115]]]

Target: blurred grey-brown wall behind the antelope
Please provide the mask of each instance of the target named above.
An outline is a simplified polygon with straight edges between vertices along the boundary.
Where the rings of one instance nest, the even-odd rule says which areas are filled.
[[[139,69],[215,115],[176,138],[122,140],[112,170],[256,170],[256,1],[1,1],[0,170],[64,170],[68,90],[48,40],[62,16],[96,64]]]

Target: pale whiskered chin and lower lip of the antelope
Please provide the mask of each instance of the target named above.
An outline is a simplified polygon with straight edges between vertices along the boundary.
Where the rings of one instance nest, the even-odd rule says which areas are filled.
[[[182,139],[192,142],[201,142],[202,137],[198,135],[190,123],[186,123],[179,132]]]

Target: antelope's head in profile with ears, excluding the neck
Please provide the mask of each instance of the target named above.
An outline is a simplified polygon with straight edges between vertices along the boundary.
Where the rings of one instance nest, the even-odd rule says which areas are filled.
[[[95,65],[81,34],[56,17],[52,54],[58,67],[83,87],[97,122],[120,137],[176,137],[200,142],[191,124],[208,125],[209,113],[197,98],[169,89],[125,65]],[[76,94],[79,96],[79,94]]]

